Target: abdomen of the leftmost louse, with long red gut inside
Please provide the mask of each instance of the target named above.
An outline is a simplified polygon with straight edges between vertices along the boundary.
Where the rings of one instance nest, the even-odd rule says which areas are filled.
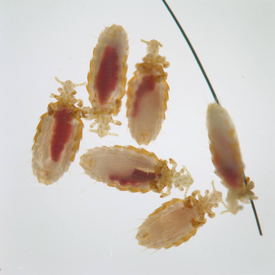
[[[33,173],[38,181],[44,184],[56,182],[68,171],[82,138],[84,125],[80,117],[69,119],[67,115],[61,115],[63,111],[58,113],[60,109],[52,115],[42,115],[34,138]],[[55,113],[58,113],[58,119],[55,119]]]

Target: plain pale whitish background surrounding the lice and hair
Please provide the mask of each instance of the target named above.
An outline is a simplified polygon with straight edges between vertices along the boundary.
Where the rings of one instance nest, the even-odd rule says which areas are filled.
[[[79,157],[95,146],[133,145],[125,101],[112,125],[119,137],[100,139],[84,121],[80,150],[69,171],[50,186],[32,175],[32,144],[39,117],[60,85],[87,80],[97,37],[122,25],[129,38],[127,79],[146,54],[140,39],[156,39],[167,57],[170,86],[162,131],[146,147],[185,165],[190,192],[215,180],[205,126],[213,97],[184,38],[161,1],[0,1],[1,173],[0,274],[275,274],[274,263],[274,1],[169,1],[192,42],[221,105],[239,136],[245,174],[255,182],[263,236],[250,205],[220,215],[187,243],[144,251],[137,227],[183,192],[119,191],[82,174]],[[76,98],[89,106],[85,87]],[[189,192],[189,194],[190,194]]]

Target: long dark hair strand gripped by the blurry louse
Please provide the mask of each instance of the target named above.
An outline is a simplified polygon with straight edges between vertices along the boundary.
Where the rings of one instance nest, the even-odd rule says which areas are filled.
[[[172,12],[172,10],[170,9],[170,7],[169,7],[168,4],[166,3],[166,1],[165,1],[165,0],[162,0],[162,2],[164,3],[165,7],[168,9],[169,13],[170,13],[171,16],[173,17],[174,21],[176,22],[176,25],[177,25],[178,28],[180,29],[180,32],[182,33],[182,35],[183,35],[184,39],[186,40],[186,42],[187,42],[187,44],[188,44],[190,50],[192,51],[192,54],[194,55],[194,57],[195,57],[195,59],[196,59],[198,65],[199,65],[199,67],[200,67],[200,69],[201,69],[201,72],[203,73],[203,76],[204,76],[204,78],[205,78],[205,80],[206,80],[206,82],[207,82],[207,85],[208,85],[208,87],[209,87],[209,89],[210,89],[210,91],[211,91],[211,93],[212,93],[212,95],[213,95],[213,97],[214,97],[214,100],[216,101],[217,104],[220,105],[219,100],[218,100],[218,98],[217,98],[217,95],[216,95],[216,93],[215,93],[215,91],[214,91],[214,89],[213,89],[213,87],[212,87],[212,85],[211,85],[211,83],[210,83],[210,81],[209,81],[209,79],[208,79],[208,76],[207,76],[207,74],[206,74],[206,72],[205,72],[205,70],[204,70],[204,68],[203,68],[203,65],[201,64],[201,61],[199,60],[199,58],[198,58],[198,56],[197,56],[197,54],[196,54],[196,52],[195,52],[195,50],[194,50],[194,48],[193,48],[191,42],[189,41],[188,37],[186,36],[184,30],[182,29],[182,26],[180,25],[178,19],[176,18],[176,16],[175,16],[174,13]],[[243,182],[244,182],[245,185],[247,185],[247,182],[246,182],[244,173],[243,173]],[[259,229],[259,233],[260,233],[260,235],[262,236],[262,235],[263,235],[263,234],[262,234],[262,229],[261,229],[261,226],[260,226],[260,222],[259,222],[258,215],[257,215],[257,212],[256,212],[256,208],[255,208],[255,205],[254,205],[254,201],[253,201],[253,200],[250,200],[250,203],[251,203],[251,206],[252,206],[252,209],[253,209],[253,213],[254,213],[254,216],[255,216],[255,219],[256,219],[256,223],[257,223],[257,226],[258,226],[258,229]]]

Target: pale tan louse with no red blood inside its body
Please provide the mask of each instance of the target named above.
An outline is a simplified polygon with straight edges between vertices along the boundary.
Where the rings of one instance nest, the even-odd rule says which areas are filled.
[[[222,193],[215,189],[213,181],[212,186],[213,192],[209,194],[206,190],[205,197],[195,190],[183,200],[172,199],[162,204],[138,228],[138,243],[147,248],[167,249],[188,241],[206,223],[206,213],[215,217],[212,208],[222,201]]]

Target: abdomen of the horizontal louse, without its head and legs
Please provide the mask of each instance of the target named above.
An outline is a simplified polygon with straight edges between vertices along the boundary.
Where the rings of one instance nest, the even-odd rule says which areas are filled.
[[[158,180],[157,158],[142,149],[121,146],[96,147],[80,157],[80,165],[91,178],[131,192],[148,192],[150,182]]]

